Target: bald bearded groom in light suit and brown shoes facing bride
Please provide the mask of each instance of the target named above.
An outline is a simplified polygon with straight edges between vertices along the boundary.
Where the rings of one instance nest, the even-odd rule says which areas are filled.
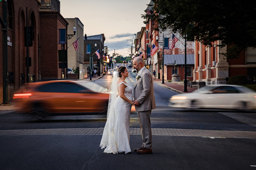
[[[145,68],[144,59],[142,57],[136,57],[133,60],[133,67],[139,71],[133,89],[135,100],[133,104],[138,112],[139,125],[143,139],[142,147],[134,149],[134,151],[140,154],[153,153],[150,124],[151,110],[156,108],[153,79],[151,73]]]

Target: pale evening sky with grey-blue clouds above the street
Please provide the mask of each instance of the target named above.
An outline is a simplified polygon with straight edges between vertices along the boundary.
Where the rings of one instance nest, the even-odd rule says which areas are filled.
[[[145,27],[141,14],[149,3],[150,0],[60,0],[60,14],[79,18],[87,36],[104,34],[104,46],[109,52],[112,54],[115,49],[115,53],[126,57],[131,53],[134,34]]]

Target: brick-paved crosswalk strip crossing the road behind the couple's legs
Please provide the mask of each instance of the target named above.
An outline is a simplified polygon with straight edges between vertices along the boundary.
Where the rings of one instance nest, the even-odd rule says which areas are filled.
[[[102,135],[99,128],[61,128],[61,129],[16,129],[0,130],[0,136],[16,135]],[[152,128],[152,135],[160,136],[197,136],[210,138],[256,138],[256,131],[201,130]],[[141,135],[140,128],[130,127],[130,135]]]

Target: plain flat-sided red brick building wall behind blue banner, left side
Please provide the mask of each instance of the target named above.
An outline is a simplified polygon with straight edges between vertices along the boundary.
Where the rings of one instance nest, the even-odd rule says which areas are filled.
[[[40,14],[41,76],[43,79],[62,78],[58,61],[58,50],[62,49],[61,44],[58,44],[58,29],[66,28],[66,20],[56,11],[41,11]]]

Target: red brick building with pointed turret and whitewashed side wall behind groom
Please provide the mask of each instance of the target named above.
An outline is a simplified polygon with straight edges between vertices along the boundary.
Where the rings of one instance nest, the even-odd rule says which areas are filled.
[[[150,10],[152,10],[151,5],[154,3],[151,1],[148,5],[145,12],[147,14],[151,14]],[[166,30],[159,30],[156,31],[156,28],[159,27],[157,21],[152,20],[150,17],[144,21],[145,27],[145,44],[141,44],[141,51],[144,52],[144,54],[148,54],[147,58],[150,58],[149,60],[146,59],[146,64],[148,64],[148,69],[152,73],[153,70],[156,70],[157,78],[162,78],[162,54],[164,52],[164,58],[170,57],[171,54],[185,54],[185,39],[182,38],[182,36],[179,33],[173,33],[171,28],[167,28]],[[141,34],[142,30],[141,30]],[[171,49],[171,43],[172,43],[172,34],[174,34],[178,41],[175,43],[175,48]],[[158,40],[156,40],[156,37]],[[142,36],[140,37],[142,38]],[[141,43],[143,43],[144,40],[141,39]],[[154,52],[152,55],[150,55],[150,52],[152,50],[153,44],[158,47],[158,50]],[[142,49],[143,48],[143,49]],[[193,54],[194,55],[194,41],[187,41],[187,54]],[[145,55],[144,55],[145,56]],[[182,57],[182,55],[177,55]],[[184,56],[184,55],[183,55]],[[145,60],[145,58],[144,58]],[[171,58],[169,58],[167,61],[170,61]],[[184,57],[179,59],[184,60]],[[184,63],[184,62],[181,62]],[[181,69],[181,64],[177,65],[177,70]],[[170,63],[168,63],[170,64]],[[191,63],[190,63],[191,64]],[[193,63],[194,64],[194,63]],[[183,64],[184,65],[184,64]],[[188,66],[187,70],[193,70],[194,66]],[[174,65],[168,65],[164,63],[164,79],[170,80],[171,76],[173,74]],[[192,80],[192,70],[191,70],[191,76],[189,76],[188,79]],[[181,73],[181,72],[180,72]],[[182,70],[182,74],[184,75],[184,68]]]

